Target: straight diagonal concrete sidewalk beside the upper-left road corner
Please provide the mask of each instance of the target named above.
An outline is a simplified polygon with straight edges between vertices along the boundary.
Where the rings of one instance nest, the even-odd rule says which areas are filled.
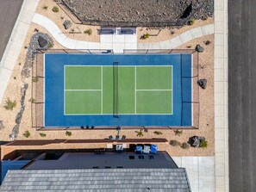
[[[28,28],[32,22],[38,3],[39,0],[24,0],[22,3],[22,9],[20,10],[0,62],[0,102],[3,100],[3,95],[9,84],[9,79],[16,65],[24,40],[26,39]]]

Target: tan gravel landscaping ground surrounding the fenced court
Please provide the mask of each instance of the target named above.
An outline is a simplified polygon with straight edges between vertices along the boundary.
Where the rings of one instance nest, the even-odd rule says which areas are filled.
[[[49,2],[49,8],[50,9],[50,3],[52,1],[41,1],[39,8],[42,4],[45,4]],[[51,10],[52,11],[52,10]],[[60,21],[60,19],[59,19]],[[40,32],[47,33],[47,30],[44,28],[41,28],[40,26],[36,24],[31,24],[31,27],[28,31],[28,37],[26,41],[24,42],[24,46],[28,46],[30,37],[32,34],[34,34],[34,28],[38,28]],[[50,35],[51,36],[51,35]],[[85,37],[86,35],[84,35]],[[150,40],[150,38],[149,38]],[[204,45],[204,41],[210,40],[211,43],[209,46]],[[60,46],[58,43],[54,41],[53,48],[64,48]],[[144,136],[142,138],[165,138],[168,141],[171,139],[176,139],[179,142],[186,142],[191,136],[198,135],[203,136],[208,140],[209,146],[206,149],[196,149],[190,147],[188,150],[184,150],[180,147],[174,147],[167,144],[161,144],[161,148],[165,149],[167,152],[169,152],[172,156],[207,156],[207,155],[213,155],[214,154],[214,35],[204,36],[202,38],[198,38],[195,40],[190,40],[183,46],[179,46],[178,48],[187,48],[190,46],[191,48],[194,48],[197,44],[200,44],[204,47],[204,52],[199,54],[199,77],[200,78],[206,78],[208,80],[208,85],[206,90],[200,89],[200,127],[198,130],[184,130],[183,134],[181,136],[175,136],[172,129],[165,129],[165,130],[158,130],[162,134],[156,135],[153,133],[156,131],[154,130],[148,130],[147,133],[144,133]],[[20,110],[20,90],[22,87],[22,81],[21,81],[21,72],[22,72],[22,66],[24,65],[24,61],[26,58],[27,49],[22,48],[22,52],[20,54],[19,59],[16,62],[16,67],[13,71],[12,77],[9,81],[8,89],[5,92],[5,95],[3,96],[3,102],[0,106],[0,119],[3,120],[5,124],[5,128],[3,130],[0,130],[0,140],[9,140],[9,134],[12,131],[12,128],[16,125],[15,118],[17,113]],[[21,64],[21,65],[19,65]],[[16,79],[15,79],[16,78]],[[31,103],[28,102],[28,100],[31,98],[31,81],[32,78],[28,77],[25,79],[25,83],[28,83],[28,91],[25,98],[25,105],[26,109],[23,113],[22,122],[20,125],[20,133],[17,139],[27,139],[25,138],[22,133],[25,131],[29,131],[31,133],[31,136],[28,139],[105,139],[108,138],[109,135],[116,135],[116,130],[71,130],[72,136],[68,137],[66,136],[66,130],[58,130],[58,131],[36,131],[35,128],[32,128],[31,123]],[[3,108],[4,101],[7,98],[10,98],[11,100],[16,100],[17,106],[12,111],[5,110]],[[136,135],[137,133],[134,132],[135,130],[122,130],[121,135],[124,134],[127,136],[128,139],[130,138],[138,138]],[[39,133],[46,133],[47,137],[42,138]],[[94,146],[97,147],[97,146]]]

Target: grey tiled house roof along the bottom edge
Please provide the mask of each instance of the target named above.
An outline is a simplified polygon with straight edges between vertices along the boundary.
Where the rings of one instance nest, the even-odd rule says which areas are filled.
[[[183,168],[9,170],[0,190],[190,192],[190,184]]]

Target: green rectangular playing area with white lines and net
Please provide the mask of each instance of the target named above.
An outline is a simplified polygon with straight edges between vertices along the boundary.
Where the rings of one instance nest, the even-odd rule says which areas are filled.
[[[65,65],[65,115],[172,115],[172,65]]]

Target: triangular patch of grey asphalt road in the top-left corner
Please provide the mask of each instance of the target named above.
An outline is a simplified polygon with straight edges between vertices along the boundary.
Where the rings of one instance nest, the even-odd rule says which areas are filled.
[[[0,60],[22,8],[23,0],[0,0]]]

